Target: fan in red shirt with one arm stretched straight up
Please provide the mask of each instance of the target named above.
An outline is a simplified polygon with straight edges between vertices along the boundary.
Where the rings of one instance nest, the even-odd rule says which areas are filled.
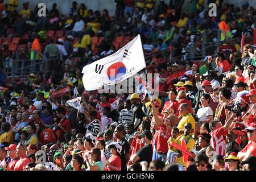
[[[152,104],[153,116],[155,117],[155,125],[158,127],[158,131],[155,133],[157,158],[166,162],[168,152],[168,139],[171,137],[171,129],[173,123],[178,123],[179,119],[176,115],[171,115],[170,119],[161,119],[158,114],[159,110]]]

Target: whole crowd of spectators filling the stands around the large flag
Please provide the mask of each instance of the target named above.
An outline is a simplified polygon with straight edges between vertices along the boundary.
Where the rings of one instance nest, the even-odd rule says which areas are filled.
[[[64,15],[53,3],[46,17],[28,2],[18,12],[18,0],[0,1],[2,38],[20,37],[27,44],[22,56],[48,61],[44,72],[10,82],[3,66],[12,52],[2,45],[0,169],[255,170],[256,11],[249,3],[210,2],[217,3],[217,17],[196,0],[188,13],[184,1],[159,0],[156,7],[154,0],[115,0],[114,16],[77,2]],[[214,30],[222,31],[221,46],[203,57],[202,34],[208,31],[214,43]],[[84,91],[82,67],[124,46],[124,39],[115,44],[118,37],[138,34],[147,72],[160,75],[159,98]],[[196,57],[189,56],[193,46]],[[69,100],[78,96],[76,109]]]

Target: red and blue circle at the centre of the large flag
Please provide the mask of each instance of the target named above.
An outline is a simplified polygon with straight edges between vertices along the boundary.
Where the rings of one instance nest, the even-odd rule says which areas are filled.
[[[126,67],[123,63],[117,62],[108,68],[107,75],[109,77],[109,80],[113,81],[126,73]]]

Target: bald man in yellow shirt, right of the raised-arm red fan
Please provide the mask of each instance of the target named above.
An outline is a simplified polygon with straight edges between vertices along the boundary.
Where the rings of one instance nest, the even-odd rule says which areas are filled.
[[[183,103],[179,106],[179,113],[180,115],[182,115],[182,118],[180,119],[179,125],[177,126],[177,128],[180,130],[180,134],[182,134],[184,132],[184,126],[186,123],[191,123],[192,125],[192,134],[195,133],[195,119],[193,118],[193,116],[191,115],[191,113],[189,113],[189,105],[186,103]]]

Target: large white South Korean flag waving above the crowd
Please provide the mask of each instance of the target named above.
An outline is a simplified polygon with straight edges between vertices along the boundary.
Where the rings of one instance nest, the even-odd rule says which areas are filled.
[[[115,85],[146,67],[141,36],[138,35],[113,55],[104,57],[82,69],[85,90]]]

